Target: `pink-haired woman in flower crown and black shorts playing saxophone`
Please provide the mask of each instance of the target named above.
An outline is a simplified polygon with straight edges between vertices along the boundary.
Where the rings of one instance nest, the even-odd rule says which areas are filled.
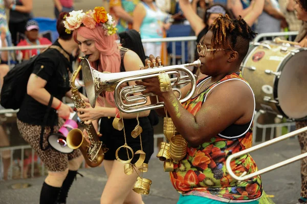
[[[140,69],[143,65],[140,57],[133,51],[124,49],[116,43],[116,28],[112,17],[107,14],[103,7],[95,7],[94,11],[73,11],[64,21],[68,32],[74,30],[74,39],[79,44],[81,52],[89,55],[91,66],[99,72],[128,72]],[[134,85],[131,81],[128,85]],[[124,123],[124,131],[117,130],[112,126],[114,119],[119,116],[119,110],[114,103],[114,93],[105,92],[100,94],[96,101],[98,105],[92,108],[89,103],[86,108],[78,108],[78,112],[84,114],[79,117],[85,124],[93,123],[98,127],[100,121],[100,140],[108,148],[104,155],[103,166],[108,176],[107,183],[101,195],[100,203],[143,203],[141,195],[133,191],[133,186],[140,172],[134,171],[131,175],[124,173],[124,164],[116,159],[116,150],[125,143],[133,149],[133,152],[141,148],[145,152],[145,164],[153,153],[153,128],[148,119],[149,110],[139,114],[121,113]],[[148,99],[148,104],[150,101]],[[137,120],[138,118],[138,120]],[[140,138],[133,138],[130,132],[138,125],[142,127],[142,147]],[[98,128],[97,128],[98,129]],[[126,136],[124,136],[126,134]],[[84,135],[86,133],[84,132]],[[126,140],[126,141],[125,141]],[[131,161],[135,164],[139,154]],[[121,160],[128,160],[127,151],[121,148],[118,151]],[[131,156],[129,157],[131,158]]]

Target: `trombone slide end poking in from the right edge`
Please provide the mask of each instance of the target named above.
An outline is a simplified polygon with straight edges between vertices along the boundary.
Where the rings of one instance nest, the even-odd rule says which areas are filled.
[[[267,147],[269,145],[272,145],[272,144],[275,144],[277,142],[280,142],[280,141],[283,141],[283,140],[286,140],[288,138],[291,138],[291,137],[294,137],[295,135],[299,134],[299,133],[302,133],[302,132],[305,132],[307,131],[307,126],[306,127],[303,127],[303,128],[300,128],[300,129],[297,129],[293,132],[289,132],[287,134],[284,134],[278,138],[275,138],[273,140],[269,140],[267,142],[264,142],[264,143],[261,143],[259,145],[255,145],[251,148],[248,148],[248,149],[245,149],[243,151],[240,151],[240,152],[237,152],[237,153],[234,153],[230,156],[228,156],[227,160],[226,160],[226,170],[228,171],[229,175],[235,179],[235,180],[238,180],[239,182],[242,182],[243,180],[248,180],[254,176],[257,176],[259,174],[262,174],[262,173],[266,173],[266,172],[269,172],[269,171],[272,171],[274,169],[277,169],[279,167],[282,167],[282,166],[285,166],[287,164],[290,164],[292,162],[296,162],[298,160],[301,160],[302,158],[306,157],[307,156],[307,152],[306,153],[302,153],[302,154],[299,154],[297,156],[294,156],[292,158],[289,158],[288,160],[286,161],[282,161],[282,162],[279,162],[277,164],[274,164],[272,166],[269,166],[269,167],[266,167],[264,169],[261,169],[261,170],[258,170],[254,173],[251,173],[251,174],[247,174],[247,172],[243,172],[241,175],[237,176],[235,175],[235,173],[232,171],[231,169],[231,166],[230,166],[230,162],[234,159],[234,158],[237,158],[237,157],[240,157],[244,154],[247,154],[247,153],[250,153],[252,151],[255,151],[255,150],[258,150],[260,148],[263,148],[263,147]]]

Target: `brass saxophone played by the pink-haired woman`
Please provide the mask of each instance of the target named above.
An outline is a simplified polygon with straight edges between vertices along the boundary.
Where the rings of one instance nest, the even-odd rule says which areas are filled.
[[[83,60],[84,58],[81,59]],[[72,100],[76,108],[86,107],[85,102],[81,98],[78,88],[75,85],[75,80],[81,69],[82,62],[78,66],[77,70],[74,71],[70,80]],[[80,112],[80,114],[83,114],[83,112]],[[90,167],[97,167],[102,163],[104,153],[107,151],[107,148],[105,148],[102,142],[99,141],[99,137],[92,123],[90,123],[89,125],[85,125],[84,121],[81,121],[81,124],[85,126],[85,130],[89,135],[88,139],[90,143],[84,139],[82,131],[78,128],[75,128],[70,130],[67,135],[67,145],[72,149],[79,148],[83,154],[83,157],[85,158],[86,164]]]

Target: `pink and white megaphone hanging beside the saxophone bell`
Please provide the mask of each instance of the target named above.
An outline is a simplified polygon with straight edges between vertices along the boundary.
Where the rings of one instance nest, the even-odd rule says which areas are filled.
[[[68,120],[62,125],[62,127],[58,130],[57,133],[52,133],[48,137],[48,143],[51,147],[61,153],[71,153],[74,149],[68,147],[66,138],[70,130],[78,128],[78,124],[80,119],[78,117],[77,112],[71,113]]]

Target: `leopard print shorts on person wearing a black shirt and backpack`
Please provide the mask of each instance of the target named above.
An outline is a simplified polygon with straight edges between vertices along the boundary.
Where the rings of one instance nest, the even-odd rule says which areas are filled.
[[[63,124],[64,121],[62,119],[59,119],[58,126],[54,126],[54,132],[57,132]],[[64,171],[68,168],[68,162],[70,160],[81,156],[81,152],[79,149],[75,149],[72,153],[69,154],[61,153],[53,149],[52,147],[43,151],[39,145],[41,126],[24,123],[17,119],[17,127],[22,137],[35,150],[35,152],[40,157],[41,161],[45,164],[49,171]],[[47,139],[48,135],[50,134],[50,131],[50,127],[45,127],[42,142],[42,146],[44,149],[48,146]]]

